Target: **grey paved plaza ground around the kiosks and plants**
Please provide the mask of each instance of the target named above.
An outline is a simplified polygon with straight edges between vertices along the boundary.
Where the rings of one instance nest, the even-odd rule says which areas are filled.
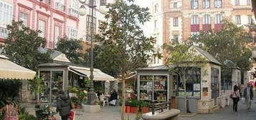
[[[34,105],[26,104],[29,114],[34,114]],[[248,111],[245,104],[238,105],[237,113],[232,111],[232,105],[219,109],[213,114],[196,114],[193,117],[179,117],[179,120],[256,120],[256,104],[252,103],[252,110]],[[120,120],[120,106],[102,107],[100,113],[90,114],[77,110],[76,120]],[[126,114],[132,119],[136,114]],[[57,118],[60,118],[57,116]]]

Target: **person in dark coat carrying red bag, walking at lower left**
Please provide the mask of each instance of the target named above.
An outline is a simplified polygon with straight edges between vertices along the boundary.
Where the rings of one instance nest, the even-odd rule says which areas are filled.
[[[57,98],[57,112],[60,113],[62,120],[67,120],[71,110],[70,98],[64,91],[59,92],[60,96]]]

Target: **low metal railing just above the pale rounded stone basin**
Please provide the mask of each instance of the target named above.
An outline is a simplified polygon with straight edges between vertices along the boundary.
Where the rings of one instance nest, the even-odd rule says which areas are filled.
[[[158,110],[161,110],[161,112],[163,112],[163,109],[171,110],[171,99],[169,99],[169,101],[158,103],[158,104],[154,104],[154,101],[152,101],[152,104],[150,106],[151,106],[152,114],[155,114],[155,112]]]

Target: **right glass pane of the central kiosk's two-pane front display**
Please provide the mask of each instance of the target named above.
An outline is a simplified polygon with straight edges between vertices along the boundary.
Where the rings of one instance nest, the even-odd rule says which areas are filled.
[[[167,101],[167,76],[153,76],[153,99]]]

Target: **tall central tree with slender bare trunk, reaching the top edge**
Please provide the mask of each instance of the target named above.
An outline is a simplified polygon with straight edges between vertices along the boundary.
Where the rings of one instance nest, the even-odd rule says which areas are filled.
[[[153,53],[154,39],[144,36],[141,25],[150,19],[148,8],[133,4],[133,0],[117,0],[108,4],[106,21],[95,36],[102,45],[98,59],[103,69],[113,69],[123,82],[122,120],[125,119],[125,77],[140,67],[147,66]]]

